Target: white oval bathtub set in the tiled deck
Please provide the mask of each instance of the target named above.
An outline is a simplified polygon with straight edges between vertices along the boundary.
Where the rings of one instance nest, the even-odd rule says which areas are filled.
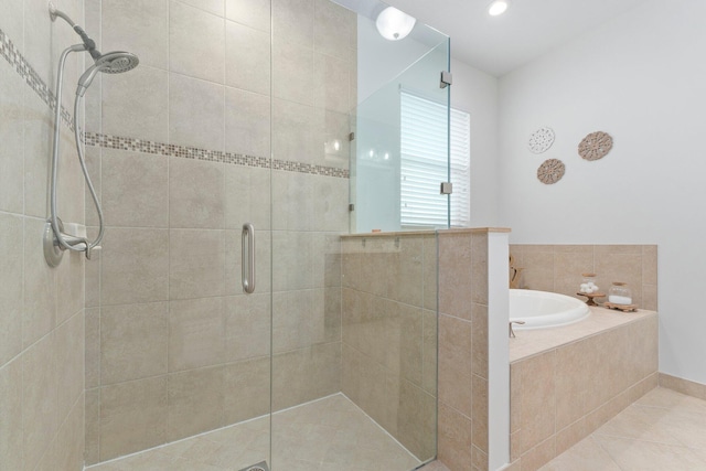
[[[513,329],[548,329],[582,321],[590,315],[588,306],[565,295],[534,291],[531,289],[510,290],[510,320],[524,321],[513,324]]]

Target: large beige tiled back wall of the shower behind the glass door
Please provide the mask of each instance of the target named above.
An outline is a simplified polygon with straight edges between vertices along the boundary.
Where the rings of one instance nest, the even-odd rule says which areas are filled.
[[[355,15],[328,0],[90,3],[99,46],[141,62],[87,94],[89,131],[347,168],[347,148],[323,142],[347,143]],[[346,179],[89,157],[107,233],[86,269],[87,463],[268,413],[270,330],[275,409],[341,390]],[[240,287],[246,222],[253,296]]]

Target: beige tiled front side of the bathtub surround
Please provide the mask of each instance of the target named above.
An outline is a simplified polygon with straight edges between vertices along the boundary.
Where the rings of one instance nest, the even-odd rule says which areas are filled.
[[[513,362],[510,371],[511,461],[534,471],[657,385],[656,314]]]

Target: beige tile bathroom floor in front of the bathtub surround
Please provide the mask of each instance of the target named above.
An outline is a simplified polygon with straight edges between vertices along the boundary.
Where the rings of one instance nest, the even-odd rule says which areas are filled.
[[[706,402],[651,390],[541,471],[706,471]]]

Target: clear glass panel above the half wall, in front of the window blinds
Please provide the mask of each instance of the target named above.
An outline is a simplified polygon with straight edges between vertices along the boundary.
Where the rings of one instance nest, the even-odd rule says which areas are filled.
[[[439,186],[449,181],[449,87],[440,87],[441,71],[449,69],[449,40],[418,25],[405,40],[389,42],[373,20],[359,18],[359,44],[362,99],[351,149],[351,229],[448,227],[449,197]],[[403,96],[436,105],[434,113],[407,107],[403,116]],[[427,162],[441,165],[436,176]]]

